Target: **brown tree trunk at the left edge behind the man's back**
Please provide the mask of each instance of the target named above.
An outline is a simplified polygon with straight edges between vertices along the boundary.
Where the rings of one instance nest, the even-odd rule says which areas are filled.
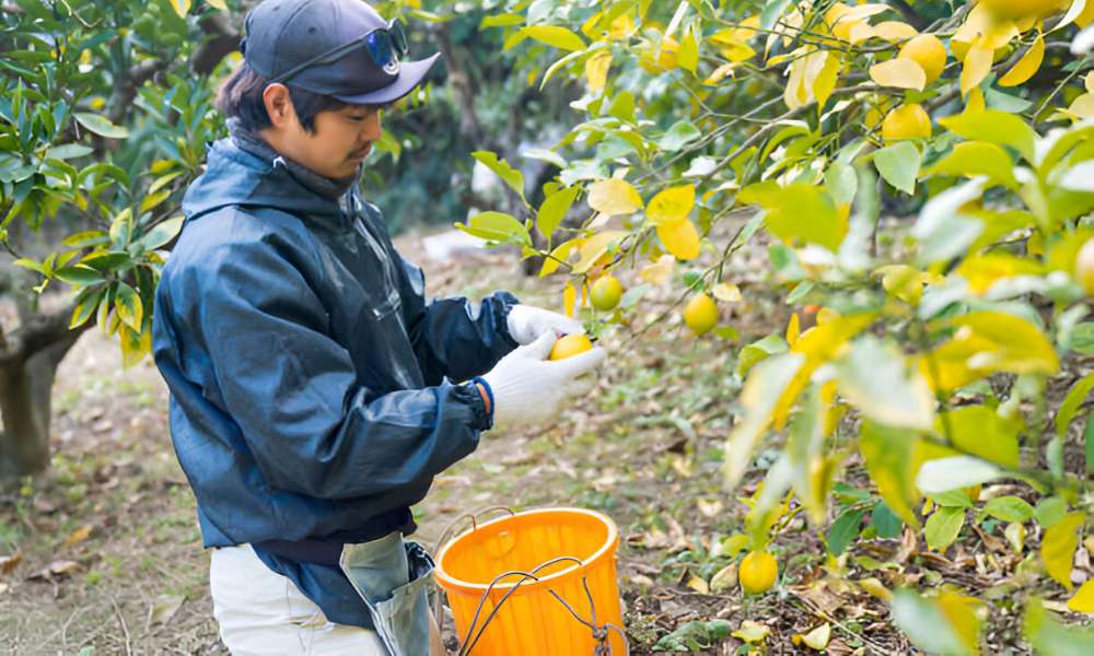
[[[83,331],[68,330],[71,308],[39,315],[7,340],[0,331],[0,481],[49,465],[49,425],[57,366]]]

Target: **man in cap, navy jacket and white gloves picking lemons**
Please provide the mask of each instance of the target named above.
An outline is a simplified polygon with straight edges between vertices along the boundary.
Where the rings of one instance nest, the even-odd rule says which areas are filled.
[[[580,324],[504,292],[427,303],[359,197],[380,109],[438,56],[403,61],[401,30],[361,0],[265,0],[246,35],[153,326],[221,636],[440,654],[410,506],[481,431],[552,415],[604,352],[546,360]]]

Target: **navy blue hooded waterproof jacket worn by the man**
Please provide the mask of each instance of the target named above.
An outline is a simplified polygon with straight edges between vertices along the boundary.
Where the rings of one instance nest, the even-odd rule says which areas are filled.
[[[153,352],[206,547],[412,531],[409,506],[490,426],[453,380],[515,348],[516,298],[427,302],[374,207],[231,139],[183,210]],[[256,551],[331,621],[371,625],[337,567]]]

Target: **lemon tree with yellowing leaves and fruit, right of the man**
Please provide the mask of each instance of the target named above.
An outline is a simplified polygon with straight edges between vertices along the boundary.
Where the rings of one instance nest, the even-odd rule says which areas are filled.
[[[484,26],[529,85],[580,84],[581,117],[543,203],[500,238],[466,229],[543,258],[596,330],[642,329],[640,297],[587,303],[612,276],[675,288],[680,323],[728,340],[744,386],[726,487],[781,447],[748,500],[753,552],[804,513],[841,578],[860,534],[944,552],[989,526],[1036,572],[1014,584],[1029,644],[1082,648],[1038,598],[1071,594],[1094,509],[1094,437],[1076,435],[1094,379],[1046,394],[1094,327],[1092,22],[1086,0],[509,2]],[[745,244],[811,325],[715,329]],[[871,490],[836,493],[858,464]],[[980,497],[1002,481],[1022,493]],[[979,651],[991,600],[863,585],[921,648]]]

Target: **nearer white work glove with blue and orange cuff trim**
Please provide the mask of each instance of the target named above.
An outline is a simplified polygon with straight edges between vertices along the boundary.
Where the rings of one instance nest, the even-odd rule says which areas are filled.
[[[579,396],[578,376],[604,361],[604,349],[565,360],[547,360],[555,345],[554,331],[501,359],[482,379],[493,394],[494,425],[540,422],[558,413],[562,401]]]

